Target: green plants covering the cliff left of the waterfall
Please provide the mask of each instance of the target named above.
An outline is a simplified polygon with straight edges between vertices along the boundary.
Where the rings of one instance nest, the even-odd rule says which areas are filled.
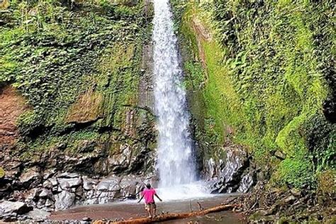
[[[122,130],[135,106],[145,1],[11,1],[1,13],[0,85],[25,96],[18,146],[46,150]],[[8,12],[7,12],[8,11]],[[71,150],[70,149],[70,150]]]

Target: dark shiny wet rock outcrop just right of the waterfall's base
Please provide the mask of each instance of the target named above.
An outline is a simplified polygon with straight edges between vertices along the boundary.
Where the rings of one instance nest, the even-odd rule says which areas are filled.
[[[206,179],[212,193],[247,192],[254,184],[249,157],[242,147],[225,147],[226,157],[206,162]]]

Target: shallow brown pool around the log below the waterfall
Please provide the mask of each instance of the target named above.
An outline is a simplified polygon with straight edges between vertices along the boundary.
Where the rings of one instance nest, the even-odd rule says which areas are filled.
[[[203,208],[211,208],[218,206],[220,203],[230,201],[236,195],[221,194],[213,195],[207,198],[194,198],[183,201],[167,201],[157,202],[157,214],[160,213],[183,213],[189,211],[198,211],[198,203]],[[198,203],[197,203],[198,202]],[[84,217],[89,217],[92,220],[106,219],[129,219],[140,218],[147,215],[143,203],[137,201],[122,201],[115,203],[106,203],[90,206],[77,206],[67,211],[57,211],[50,215],[50,220],[82,220]],[[243,223],[242,216],[233,211],[223,211],[220,213],[211,213],[202,217],[188,218],[184,220],[172,220],[164,223],[187,223],[188,221],[198,221],[198,223]]]

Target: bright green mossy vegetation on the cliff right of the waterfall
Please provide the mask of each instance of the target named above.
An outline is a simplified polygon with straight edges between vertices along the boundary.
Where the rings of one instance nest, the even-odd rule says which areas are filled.
[[[271,167],[271,182],[279,186],[314,188],[316,174],[335,170],[336,127],[322,112],[335,91],[332,2],[174,6],[181,15],[182,46],[192,55],[185,71],[205,103],[201,113],[191,105],[196,120],[205,120],[198,123],[198,140],[206,135],[201,138],[216,148],[209,156],[228,140],[245,145],[259,166]],[[195,72],[200,64],[203,69]],[[286,159],[276,159],[277,150]]]

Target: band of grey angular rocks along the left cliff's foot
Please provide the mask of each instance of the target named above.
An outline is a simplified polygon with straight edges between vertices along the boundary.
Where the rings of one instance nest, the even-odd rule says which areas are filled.
[[[43,217],[51,211],[60,211],[73,206],[109,203],[136,198],[144,181],[152,178],[111,176],[94,179],[77,173],[52,173],[42,177],[30,171],[19,181],[25,190],[13,191],[0,202],[0,220],[16,221]],[[4,179],[8,181],[8,179]],[[14,184],[17,184],[17,182]],[[39,215],[37,215],[39,216]]]

